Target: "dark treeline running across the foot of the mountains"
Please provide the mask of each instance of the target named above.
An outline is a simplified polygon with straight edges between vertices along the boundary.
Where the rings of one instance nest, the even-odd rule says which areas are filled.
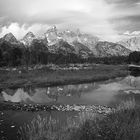
[[[134,52],[135,53],[135,52]],[[140,58],[140,54],[138,55]],[[137,56],[137,57],[138,57]],[[102,63],[102,64],[126,64],[135,60],[134,54],[127,56],[93,57],[82,58],[74,53],[50,53],[48,48],[39,41],[33,41],[32,45],[26,48],[21,44],[11,44],[4,41],[0,44],[0,66],[20,66],[34,64],[67,64],[67,63]],[[129,60],[129,61],[128,61]],[[139,59],[140,60],[140,59]]]

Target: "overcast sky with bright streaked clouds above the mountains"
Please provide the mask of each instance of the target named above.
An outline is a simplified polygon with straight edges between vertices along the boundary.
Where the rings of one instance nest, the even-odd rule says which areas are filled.
[[[140,33],[140,0],[0,0],[0,36],[79,28],[104,40]]]

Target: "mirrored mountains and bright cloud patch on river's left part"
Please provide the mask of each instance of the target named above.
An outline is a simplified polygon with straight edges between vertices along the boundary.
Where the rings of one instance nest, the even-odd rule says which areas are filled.
[[[58,87],[33,88],[25,87],[17,90],[6,89],[1,92],[1,99],[11,102],[50,103],[80,99],[83,93],[92,91],[93,84],[67,85]],[[64,102],[65,102],[64,101]]]

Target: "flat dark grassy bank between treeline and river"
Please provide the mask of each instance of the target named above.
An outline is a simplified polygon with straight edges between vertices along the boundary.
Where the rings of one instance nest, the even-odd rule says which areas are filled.
[[[0,88],[76,84],[126,75],[128,75],[127,66],[123,65],[92,65],[89,69],[0,70]]]

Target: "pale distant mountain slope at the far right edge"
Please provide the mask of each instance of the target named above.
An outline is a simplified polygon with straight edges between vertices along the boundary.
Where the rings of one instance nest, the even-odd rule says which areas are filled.
[[[140,36],[132,37],[118,42],[131,51],[140,51]]]

